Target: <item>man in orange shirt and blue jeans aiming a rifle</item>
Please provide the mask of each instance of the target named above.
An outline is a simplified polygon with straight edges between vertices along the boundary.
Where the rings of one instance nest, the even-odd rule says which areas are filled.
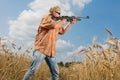
[[[70,25],[77,21],[74,19],[62,27],[66,19],[53,20],[53,18],[60,17],[60,11],[59,6],[54,6],[49,10],[50,14],[42,18],[34,43],[33,61],[23,80],[33,80],[35,72],[44,60],[49,66],[51,80],[58,80],[59,69],[55,58],[57,36],[64,34]]]

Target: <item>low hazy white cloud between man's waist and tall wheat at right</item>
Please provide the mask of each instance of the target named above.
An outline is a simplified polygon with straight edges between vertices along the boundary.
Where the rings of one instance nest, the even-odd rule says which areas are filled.
[[[84,46],[79,46],[77,49],[74,49],[74,45],[64,41],[59,40],[59,45],[57,45],[57,60],[63,62],[69,61],[82,61],[84,59],[84,55],[80,54],[80,50],[84,49]],[[67,45],[66,45],[67,44]]]

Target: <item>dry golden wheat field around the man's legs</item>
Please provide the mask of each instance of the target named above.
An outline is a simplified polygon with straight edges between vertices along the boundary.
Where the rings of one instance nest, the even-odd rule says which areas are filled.
[[[59,63],[59,80],[120,80],[120,42],[107,32],[111,35],[106,40],[107,48],[94,40],[93,44],[80,50],[79,54],[85,56],[83,62],[71,62],[68,66]],[[24,54],[12,54],[2,45],[1,52],[0,80],[22,80],[31,63],[31,57],[25,57],[29,50]],[[34,80],[50,80],[49,77],[44,62]]]

